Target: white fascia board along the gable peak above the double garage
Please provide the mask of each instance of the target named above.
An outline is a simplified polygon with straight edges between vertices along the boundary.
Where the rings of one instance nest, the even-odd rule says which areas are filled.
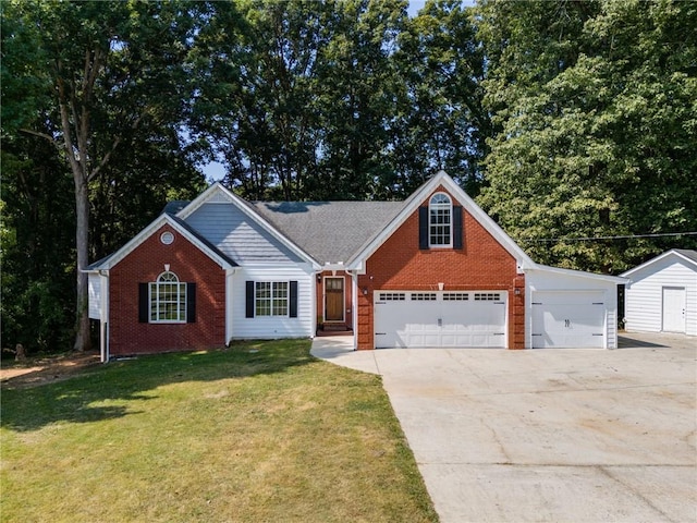
[[[458,200],[465,210],[469,212],[489,233],[505,248],[517,262],[522,269],[535,267],[533,259],[509,236],[501,227],[472,199],[464,190],[450,178],[445,171],[440,171],[428,182],[421,185],[412,196],[407,198],[404,208],[394,219],[376,236],[369,240],[356,255],[354,255],[346,267],[352,270],[360,270],[364,262],[368,259],[384,241],[396,231],[406,219],[421,205],[439,185],[443,185]]]

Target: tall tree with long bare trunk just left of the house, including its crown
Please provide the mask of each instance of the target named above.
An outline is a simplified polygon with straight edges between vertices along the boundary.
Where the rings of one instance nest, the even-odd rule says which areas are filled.
[[[205,9],[205,4],[200,8]],[[187,108],[187,51],[196,33],[187,2],[7,2],[15,32],[5,46],[35,46],[12,71],[41,92],[45,118],[23,132],[46,138],[70,167],[75,202],[76,337],[89,344],[87,275],[90,193],[136,130],[176,129]],[[17,62],[16,65],[20,65]]]

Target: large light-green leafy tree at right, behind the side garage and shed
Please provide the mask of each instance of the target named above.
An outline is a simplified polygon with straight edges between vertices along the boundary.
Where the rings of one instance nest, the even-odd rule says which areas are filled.
[[[692,4],[487,2],[477,20],[496,125],[480,203],[514,239],[619,272],[667,244],[571,239],[695,230]]]

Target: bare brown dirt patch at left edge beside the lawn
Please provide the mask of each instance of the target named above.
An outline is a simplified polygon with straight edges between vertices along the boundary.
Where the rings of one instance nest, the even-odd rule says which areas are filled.
[[[56,356],[29,357],[26,362],[2,363],[0,384],[12,389],[25,389],[60,381],[82,374],[99,364],[98,352],[75,352]]]

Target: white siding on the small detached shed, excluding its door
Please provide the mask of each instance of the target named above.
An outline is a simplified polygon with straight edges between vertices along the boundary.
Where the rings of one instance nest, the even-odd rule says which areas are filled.
[[[663,329],[663,289],[685,289],[685,333],[697,336],[697,270],[675,256],[648,265],[629,276],[624,317],[627,331]]]

